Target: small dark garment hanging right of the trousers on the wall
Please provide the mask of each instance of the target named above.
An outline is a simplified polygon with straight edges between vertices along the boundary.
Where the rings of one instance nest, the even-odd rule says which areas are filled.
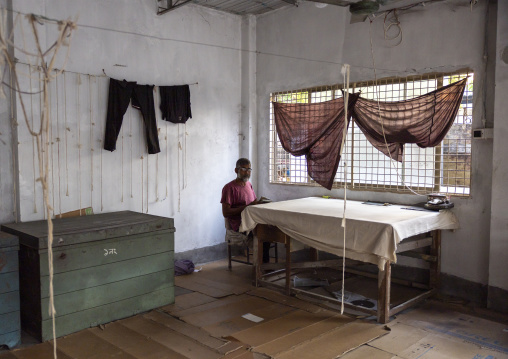
[[[185,123],[192,118],[189,85],[160,86],[162,119]]]

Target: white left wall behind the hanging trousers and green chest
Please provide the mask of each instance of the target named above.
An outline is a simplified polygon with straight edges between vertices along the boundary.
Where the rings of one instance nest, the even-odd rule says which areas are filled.
[[[141,0],[32,0],[16,2],[15,10],[52,19],[79,16],[68,72],[51,87],[55,213],[92,206],[94,213],[134,210],[174,217],[176,252],[183,252],[224,241],[220,194],[234,178],[240,151],[242,19],[194,5],[157,16],[155,6]],[[52,24],[40,28],[46,47],[55,30]],[[16,40],[21,44],[20,36]],[[21,53],[17,56],[23,61]],[[19,69],[27,72],[26,66]],[[179,128],[158,113],[161,153],[148,155],[140,113],[129,109],[117,150],[102,150],[108,94],[102,69],[140,84],[191,84],[193,118]],[[23,84],[30,86],[27,79]],[[32,88],[37,89],[35,80]],[[37,124],[38,97],[31,105]],[[21,220],[42,219],[26,126],[20,126],[18,149]]]

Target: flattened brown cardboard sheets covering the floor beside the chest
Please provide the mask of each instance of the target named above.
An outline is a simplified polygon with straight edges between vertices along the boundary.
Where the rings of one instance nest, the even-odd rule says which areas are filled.
[[[58,358],[332,359],[388,333],[375,322],[246,284],[250,266],[235,270],[206,266],[176,277],[174,304],[59,338]],[[0,352],[0,359],[25,358],[52,359],[52,342]]]

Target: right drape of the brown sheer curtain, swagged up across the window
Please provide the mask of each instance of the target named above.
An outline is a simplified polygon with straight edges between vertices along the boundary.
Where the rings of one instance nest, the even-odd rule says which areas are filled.
[[[402,162],[405,143],[426,148],[443,140],[459,110],[466,82],[467,78],[411,100],[379,102],[379,106],[360,97],[353,119],[375,148]]]

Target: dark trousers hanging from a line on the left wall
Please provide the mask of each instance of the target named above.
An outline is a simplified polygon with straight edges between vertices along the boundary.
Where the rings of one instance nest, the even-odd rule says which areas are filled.
[[[157,123],[152,85],[138,85],[136,82],[109,79],[108,114],[106,117],[106,132],[104,135],[104,149],[114,151],[116,140],[122,127],[123,116],[129,103],[141,111],[145,127],[145,138],[148,153],[160,152]]]

